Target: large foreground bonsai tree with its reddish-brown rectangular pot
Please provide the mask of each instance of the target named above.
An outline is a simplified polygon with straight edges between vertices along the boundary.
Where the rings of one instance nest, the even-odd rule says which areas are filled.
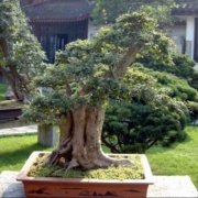
[[[72,169],[133,165],[129,156],[117,158],[101,150],[106,105],[109,98],[121,100],[130,95],[122,78],[136,54],[161,38],[156,29],[155,21],[145,13],[124,14],[116,24],[102,28],[91,40],[68,44],[57,55],[55,65],[35,79],[35,85],[46,88],[46,92],[34,98],[23,117],[59,127],[58,147],[42,164],[48,169],[58,167],[51,172],[51,176],[61,169],[68,173]],[[157,45],[155,50],[161,53]],[[147,163],[143,169],[148,169],[148,174],[136,182],[29,177],[26,168],[30,164],[38,164],[37,155],[32,155],[33,160],[25,164],[18,177],[24,184],[26,196],[145,197],[147,185],[152,183]],[[40,157],[43,158],[44,154]],[[146,160],[142,157],[141,161]]]

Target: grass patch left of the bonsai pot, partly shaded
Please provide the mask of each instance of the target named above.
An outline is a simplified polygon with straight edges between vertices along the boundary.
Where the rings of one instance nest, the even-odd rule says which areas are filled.
[[[36,141],[35,134],[0,138],[0,172],[20,170],[33,151],[51,150]]]

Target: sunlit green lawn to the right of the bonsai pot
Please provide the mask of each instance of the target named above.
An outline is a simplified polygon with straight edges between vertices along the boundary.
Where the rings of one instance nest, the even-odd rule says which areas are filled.
[[[198,187],[198,127],[188,127],[187,140],[165,148],[146,152],[154,175],[189,175]]]

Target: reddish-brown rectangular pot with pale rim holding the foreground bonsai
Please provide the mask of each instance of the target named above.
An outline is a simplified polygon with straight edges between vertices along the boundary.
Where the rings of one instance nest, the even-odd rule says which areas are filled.
[[[141,155],[144,179],[98,180],[55,177],[29,177],[31,165],[41,152],[33,152],[18,176],[24,185],[26,197],[146,197],[153,184],[152,172],[145,155]],[[43,153],[43,152],[42,152]],[[118,155],[118,154],[117,154]],[[129,156],[128,154],[123,156]]]

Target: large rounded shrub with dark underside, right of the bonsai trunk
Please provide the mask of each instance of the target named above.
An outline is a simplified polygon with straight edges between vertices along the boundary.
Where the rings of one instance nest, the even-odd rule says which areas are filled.
[[[106,112],[102,143],[111,152],[144,153],[154,144],[167,146],[186,138],[189,110],[183,97],[194,91],[188,99],[195,101],[198,94],[185,80],[134,64],[125,85],[125,100],[111,99]]]

